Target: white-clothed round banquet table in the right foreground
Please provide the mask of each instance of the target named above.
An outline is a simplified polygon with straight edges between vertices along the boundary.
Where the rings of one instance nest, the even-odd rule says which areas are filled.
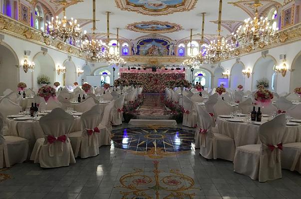
[[[246,120],[247,117],[239,117]],[[268,117],[263,117],[262,121],[267,122]],[[235,146],[243,146],[248,144],[260,144],[259,126],[251,122],[232,122],[227,118],[218,117],[216,119],[218,131],[234,139]],[[301,125],[287,126],[282,143],[301,142]]]

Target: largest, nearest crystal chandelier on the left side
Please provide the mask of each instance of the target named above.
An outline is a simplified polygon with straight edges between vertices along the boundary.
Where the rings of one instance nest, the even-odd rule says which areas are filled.
[[[60,38],[64,42],[68,39],[74,44],[81,37],[81,28],[77,24],[77,20],[67,20],[65,5],[67,4],[66,0],[60,2],[63,5],[63,17],[60,19],[58,16],[51,17],[51,21],[45,23],[45,33],[42,32],[44,39],[51,37],[52,39]]]

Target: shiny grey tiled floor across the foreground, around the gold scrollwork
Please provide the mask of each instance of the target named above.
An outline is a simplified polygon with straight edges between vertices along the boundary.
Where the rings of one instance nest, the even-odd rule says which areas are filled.
[[[124,125],[123,125],[124,126]],[[170,169],[194,180],[194,188],[187,194],[194,199],[301,199],[301,175],[283,170],[283,178],[259,183],[233,172],[233,163],[224,160],[207,161],[198,150],[156,159],[160,176]],[[101,147],[100,154],[87,159],[76,159],[69,167],[42,169],[31,162],[14,165],[12,179],[0,183],[0,199],[121,199],[119,179],[141,168],[144,175],[152,173],[154,159],[111,147]],[[156,199],[154,192],[149,192]],[[169,194],[160,191],[160,199]],[[176,199],[176,197],[174,198]],[[187,198],[188,199],[188,198]]]

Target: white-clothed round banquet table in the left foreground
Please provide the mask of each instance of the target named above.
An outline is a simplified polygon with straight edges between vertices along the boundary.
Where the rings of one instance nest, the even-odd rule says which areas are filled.
[[[38,116],[40,118],[40,116]],[[35,141],[39,138],[44,138],[44,133],[38,120],[14,120],[13,118],[7,118],[8,133],[12,136],[19,136],[28,140],[28,154],[34,147]],[[81,130],[80,117],[74,118],[71,132]]]

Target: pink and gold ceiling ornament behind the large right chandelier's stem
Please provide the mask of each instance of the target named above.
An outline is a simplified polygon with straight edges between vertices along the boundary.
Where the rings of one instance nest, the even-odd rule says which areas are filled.
[[[249,14],[249,16],[251,16],[252,18],[255,17],[256,8],[253,6],[254,0],[240,0],[240,1],[228,2],[228,3],[241,8],[247,14]],[[281,3],[274,1],[274,0],[261,0],[260,3],[263,4],[262,6],[260,6],[258,8],[258,14],[260,16],[266,15],[267,10],[269,10],[273,6],[276,8],[282,6]]]

